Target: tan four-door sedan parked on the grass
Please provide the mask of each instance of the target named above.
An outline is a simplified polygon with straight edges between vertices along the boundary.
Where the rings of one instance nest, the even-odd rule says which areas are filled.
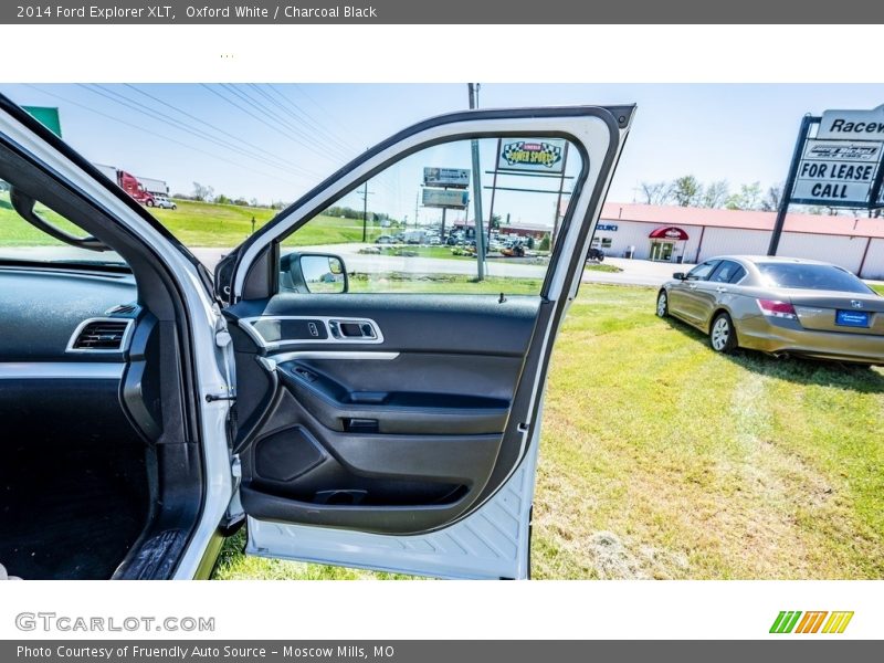
[[[838,265],[793,257],[725,255],[676,272],[656,301],[709,335],[718,352],[884,365],[884,297]]]

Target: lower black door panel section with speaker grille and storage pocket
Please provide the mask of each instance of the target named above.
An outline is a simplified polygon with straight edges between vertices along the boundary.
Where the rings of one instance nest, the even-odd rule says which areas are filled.
[[[422,532],[474,503],[501,441],[499,434],[340,433],[282,388],[262,433],[240,454],[243,505],[263,519]]]

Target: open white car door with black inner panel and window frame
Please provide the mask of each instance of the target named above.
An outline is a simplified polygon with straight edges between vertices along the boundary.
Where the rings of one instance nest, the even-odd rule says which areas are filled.
[[[444,577],[527,573],[549,356],[632,113],[431,120],[369,150],[219,265],[233,301],[248,551]],[[273,294],[281,239],[398,152],[549,133],[573,141],[583,167],[538,296]],[[340,320],[369,333],[338,334]]]

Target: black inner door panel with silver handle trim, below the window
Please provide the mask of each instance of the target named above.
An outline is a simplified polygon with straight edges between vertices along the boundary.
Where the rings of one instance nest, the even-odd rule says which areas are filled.
[[[228,308],[249,385],[235,443],[248,513],[389,534],[464,513],[499,459],[539,304],[286,294]],[[378,338],[305,337],[303,320],[341,318]]]

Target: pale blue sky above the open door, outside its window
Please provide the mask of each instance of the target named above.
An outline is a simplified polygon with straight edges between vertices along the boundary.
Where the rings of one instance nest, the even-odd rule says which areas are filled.
[[[165,179],[172,192],[199,181],[262,202],[294,200],[403,126],[467,106],[465,84],[40,84],[0,92],[23,105],[57,106],[64,138],[95,162]],[[619,103],[639,110],[609,200],[630,202],[641,181],[687,173],[726,179],[732,190],[780,182],[804,113],[872,108],[884,103],[884,86],[485,83],[480,93],[483,108]]]

